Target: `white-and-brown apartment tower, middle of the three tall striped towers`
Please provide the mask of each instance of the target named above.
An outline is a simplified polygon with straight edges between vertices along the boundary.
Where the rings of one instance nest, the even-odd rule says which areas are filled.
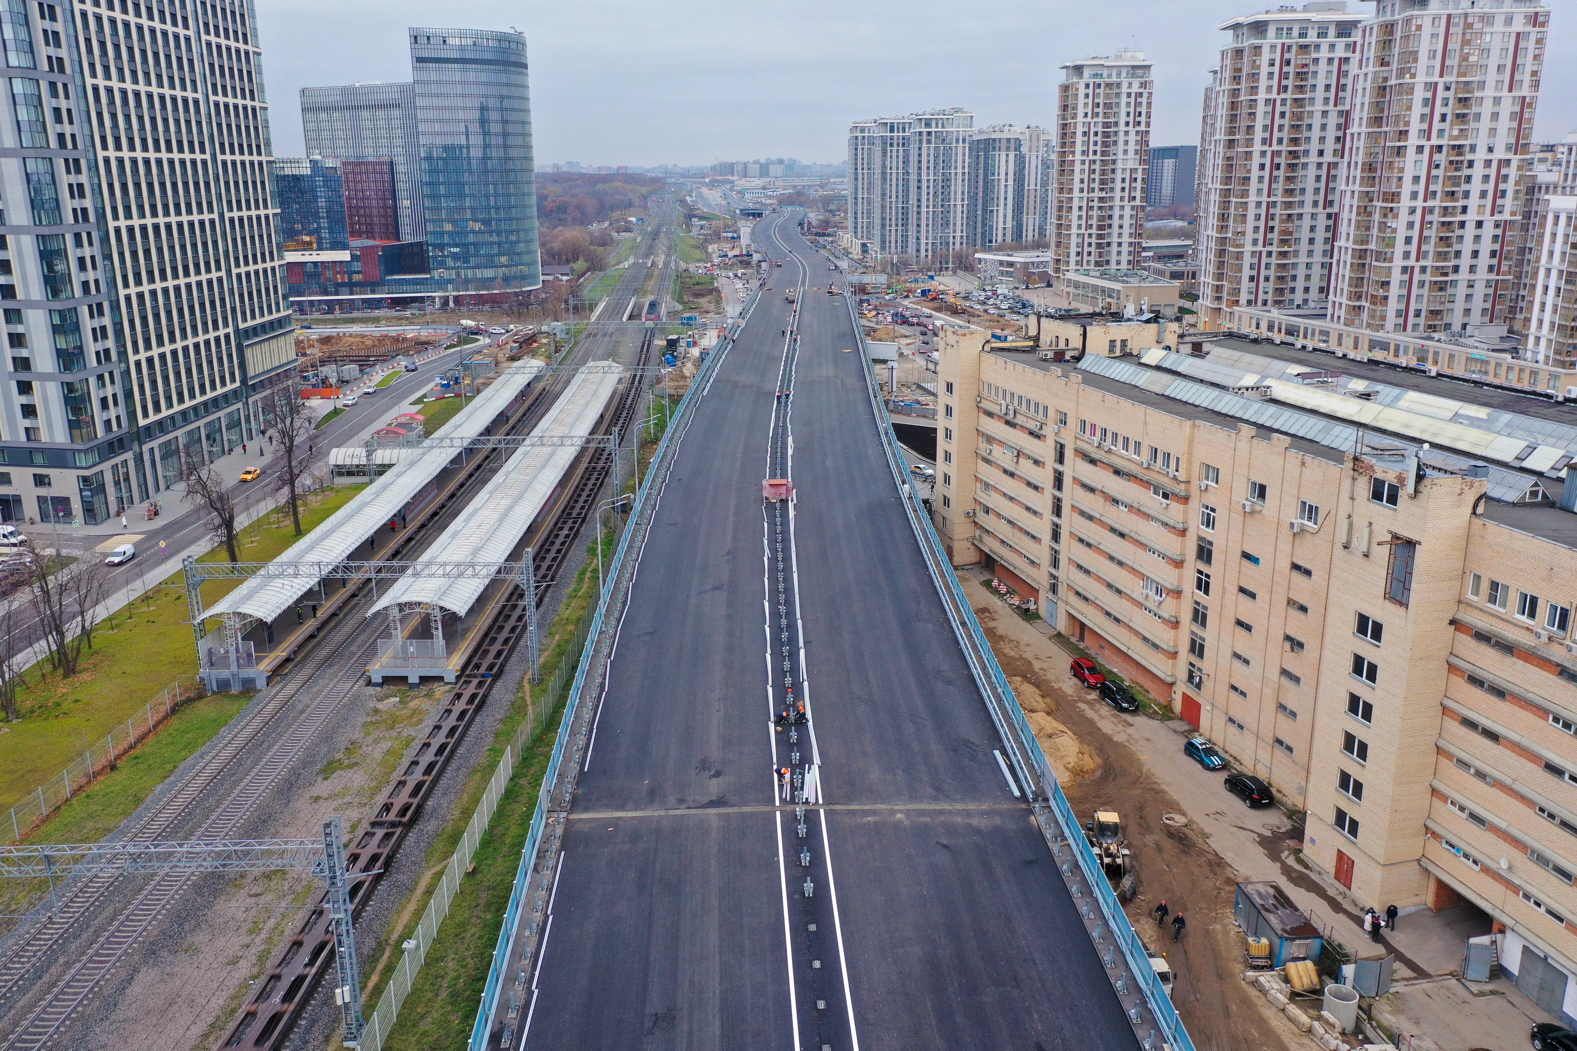
[[[1199,295],[1210,315],[1326,298],[1363,17],[1315,0],[1221,25],[1232,43],[1205,88],[1199,148]]]

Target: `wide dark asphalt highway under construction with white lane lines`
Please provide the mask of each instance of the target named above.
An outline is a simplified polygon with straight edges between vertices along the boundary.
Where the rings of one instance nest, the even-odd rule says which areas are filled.
[[[661,492],[541,939],[509,947],[509,1045],[1137,1048],[994,756],[798,214],[755,225],[784,266]],[[793,503],[763,500],[782,476]]]

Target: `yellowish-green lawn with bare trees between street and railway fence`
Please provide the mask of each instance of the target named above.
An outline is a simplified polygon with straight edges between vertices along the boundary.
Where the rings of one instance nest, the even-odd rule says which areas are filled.
[[[361,492],[337,485],[320,495],[301,517],[311,529]],[[273,512],[241,534],[241,558],[267,561],[295,544],[289,515]],[[224,548],[202,556],[222,561]],[[136,566],[136,563],[132,563]],[[151,581],[150,581],[151,583]],[[210,580],[203,602],[211,605],[237,586],[235,580]],[[107,618],[93,635],[95,648],[69,679],[32,670],[21,690],[22,719],[0,733],[0,807],[9,808],[66,763],[96,744],[110,726],[126,722],[178,676],[197,671],[181,575],[151,586],[145,597]],[[158,737],[155,737],[158,739]]]

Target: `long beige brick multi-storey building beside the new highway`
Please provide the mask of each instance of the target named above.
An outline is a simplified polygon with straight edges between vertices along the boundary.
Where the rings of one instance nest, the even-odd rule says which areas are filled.
[[[1173,353],[1153,325],[1069,340],[1079,321],[1030,351],[945,334],[953,561],[1306,810],[1304,857],[1359,904],[1482,909],[1571,1023],[1569,411],[1307,350]]]

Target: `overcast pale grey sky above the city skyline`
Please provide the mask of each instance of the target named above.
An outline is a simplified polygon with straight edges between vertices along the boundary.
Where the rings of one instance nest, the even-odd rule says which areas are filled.
[[[1350,0],[1353,9],[1372,3]],[[976,126],[1052,126],[1064,61],[1156,63],[1151,143],[1199,142],[1228,17],[1260,0],[259,0],[274,153],[300,156],[298,88],[408,80],[407,25],[527,36],[539,164],[839,161],[848,123],[964,106]],[[1536,134],[1577,129],[1577,11],[1553,3]],[[435,19],[435,11],[443,17]]]

